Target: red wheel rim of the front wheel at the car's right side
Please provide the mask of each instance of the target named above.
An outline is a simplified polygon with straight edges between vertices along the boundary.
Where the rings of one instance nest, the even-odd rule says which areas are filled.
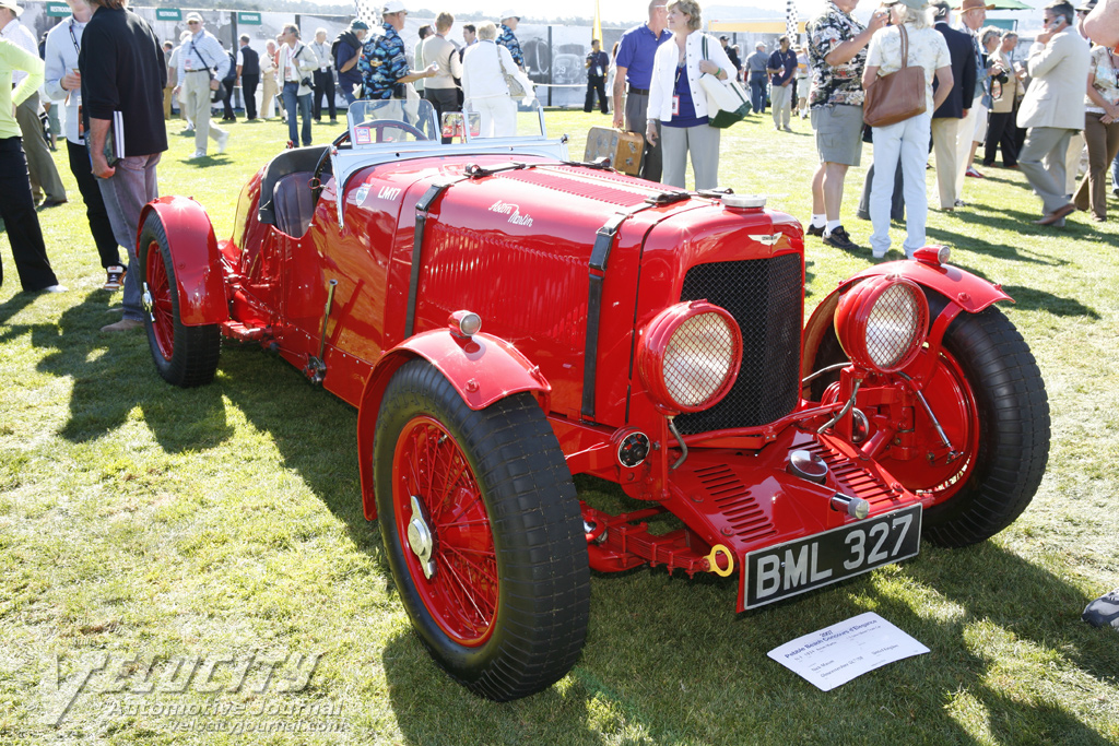
[[[919,359],[916,366],[920,365]],[[959,492],[975,470],[979,452],[979,407],[963,369],[947,350],[941,350],[935,370],[922,393],[960,456],[948,464],[942,459],[937,463],[925,459],[895,461],[887,453],[884,465],[906,489],[925,499],[925,508],[931,508]],[[923,408],[914,407],[914,416],[918,417],[916,431],[925,438],[922,445],[927,447],[920,450],[939,446],[940,437]]]

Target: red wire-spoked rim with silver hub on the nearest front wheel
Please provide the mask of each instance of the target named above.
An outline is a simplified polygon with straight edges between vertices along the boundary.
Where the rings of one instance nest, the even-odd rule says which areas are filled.
[[[408,538],[413,498],[433,537],[430,578]],[[493,533],[462,448],[431,417],[410,421],[396,442],[393,507],[405,565],[432,618],[461,645],[485,643],[493,631],[498,602]]]

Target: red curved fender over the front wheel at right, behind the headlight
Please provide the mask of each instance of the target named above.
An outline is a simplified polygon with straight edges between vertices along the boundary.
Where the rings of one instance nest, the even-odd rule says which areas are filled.
[[[968,313],[979,313],[988,305],[998,301],[1014,302],[1013,298],[1003,292],[1000,285],[990,283],[982,277],[978,277],[970,272],[951,266],[950,264],[901,261],[886,262],[885,264],[866,268],[839,283],[839,286],[812,311],[811,318],[809,318],[808,323],[805,325],[805,334],[802,337],[803,349],[800,356],[801,378],[812,372],[816,351],[831,327],[836,305],[839,303],[839,296],[864,280],[880,275],[908,277],[922,287],[940,293],[948,301],[947,306],[941,313],[948,312],[955,315],[961,310]],[[935,322],[935,319],[932,321]],[[943,327],[940,328],[940,331],[941,333],[943,332]]]

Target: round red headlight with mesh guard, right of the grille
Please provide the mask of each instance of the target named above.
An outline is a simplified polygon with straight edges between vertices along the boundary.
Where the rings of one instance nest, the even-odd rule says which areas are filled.
[[[872,277],[839,299],[835,325],[854,365],[894,372],[912,362],[924,344],[929,301],[911,280]]]

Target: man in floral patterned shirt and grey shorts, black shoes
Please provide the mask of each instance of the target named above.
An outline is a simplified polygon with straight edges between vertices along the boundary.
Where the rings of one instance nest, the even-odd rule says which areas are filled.
[[[808,56],[812,88],[808,97],[820,167],[812,177],[812,220],[808,233],[845,251],[859,246],[839,220],[847,169],[858,166],[863,152],[863,68],[866,45],[886,25],[885,11],[875,11],[863,27],[850,12],[858,0],[831,0],[808,23]]]

